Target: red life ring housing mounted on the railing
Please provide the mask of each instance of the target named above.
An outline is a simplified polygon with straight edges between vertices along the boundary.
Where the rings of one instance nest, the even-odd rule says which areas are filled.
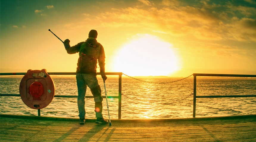
[[[54,98],[54,93],[55,85],[46,69],[28,70],[21,79],[21,99],[32,109],[42,109],[48,106]]]

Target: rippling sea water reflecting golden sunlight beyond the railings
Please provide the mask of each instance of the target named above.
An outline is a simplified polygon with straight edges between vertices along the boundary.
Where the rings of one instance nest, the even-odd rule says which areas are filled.
[[[104,84],[97,76],[102,96]],[[149,82],[171,82],[177,78],[138,78]],[[55,95],[77,95],[74,76],[53,77]],[[21,77],[0,78],[1,94],[19,94]],[[193,117],[193,77],[174,83],[157,84],[122,77],[122,119],[164,119]],[[255,95],[256,80],[197,78],[197,96]],[[118,96],[118,77],[108,76],[107,96]],[[86,96],[92,96],[87,88]],[[20,97],[0,96],[1,114],[38,115],[38,110],[26,106]],[[111,119],[118,119],[118,99],[107,99]],[[103,115],[107,118],[106,99],[103,100]],[[93,98],[85,98],[86,118],[95,118]],[[41,109],[41,116],[78,118],[77,98],[57,98]],[[256,97],[197,98],[196,117],[219,117],[256,114]]]

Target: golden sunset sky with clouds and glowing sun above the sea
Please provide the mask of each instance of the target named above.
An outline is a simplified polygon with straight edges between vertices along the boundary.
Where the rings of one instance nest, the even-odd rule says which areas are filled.
[[[106,72],[256,74],[255,0],[1,0],[0,72],[75,72],[91,29]]]

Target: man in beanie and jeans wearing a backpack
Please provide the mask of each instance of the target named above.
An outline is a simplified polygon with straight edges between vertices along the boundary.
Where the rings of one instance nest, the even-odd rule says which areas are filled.
[[[69,39],[64,41],[64,46],[68,54],[79,53],[77,62],[77,88],[78,97],[77,105],[79,110],[80,124],[85,124],[85,93],[87,86],[90,88],[95,101],[96,123],[107,124],[102,116],[102,95],[99,86],[97,75],[97,62],[99,62],[100,73],[102,78],[107,79],[105,75],[105,52],[103,46],[97,42],[97,31],[90,30],[89,37],[86,41],[77,43],[75,46],[70,46]]]

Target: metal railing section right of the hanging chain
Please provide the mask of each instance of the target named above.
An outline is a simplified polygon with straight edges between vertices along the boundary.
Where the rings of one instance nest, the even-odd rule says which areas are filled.
[[[196,76],[216,76],[216,77],[252,77],[256,75],[231,75],[231,74],[204,74],[194,73],[194,98],[193,98],[193,117],[196,117],[196,98],[232,98],[232,97],[256,97],[256,95],[224,95],[224,96],[196,96]]]

